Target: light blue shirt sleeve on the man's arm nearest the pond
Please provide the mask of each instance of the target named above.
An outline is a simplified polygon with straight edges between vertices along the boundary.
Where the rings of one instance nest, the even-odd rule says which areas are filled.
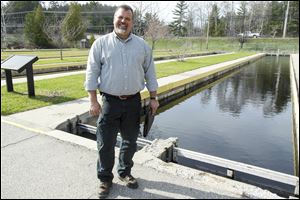
[[[143,68],[145,72],[146,87],[148,91],[153,92],[156,91],[158,88],[155,67],[154,67],[154,60],[152,56],[152,50],[146,44],[145,44],[145,51],[146,51],[146,56],[145,56]]]

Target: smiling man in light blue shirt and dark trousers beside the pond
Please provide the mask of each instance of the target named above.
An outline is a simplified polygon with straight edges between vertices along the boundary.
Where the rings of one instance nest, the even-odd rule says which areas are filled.
[[[140,129],[139,92],[144,89],[145,80],[153,114],[159,106],[152,51],[142,38],[131,33],[132,26],[132,8],[119,6],[114,14],[114,31],[93,43],[87,62],[85,89],[90,98],[90,114],[99,115],[96,135],[100,198],[107,197],[112,186],[118,132],[122,137],[117,167],[119,178],[129,188],[138,187],[131,168]],[[97,89],[102,95],[102,107],[97,100]]]

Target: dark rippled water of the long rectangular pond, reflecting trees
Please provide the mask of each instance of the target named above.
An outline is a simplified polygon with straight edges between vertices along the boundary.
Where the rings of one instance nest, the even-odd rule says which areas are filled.
[[[160,108],[147,139],[293,174],[289,58],[264,57]]]

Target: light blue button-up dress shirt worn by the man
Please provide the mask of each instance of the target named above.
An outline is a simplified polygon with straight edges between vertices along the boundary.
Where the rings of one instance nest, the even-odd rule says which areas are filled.
[[[152,51],[146,42],[130,34],[126,40],[115,32],[98,38],[87,61],[85,89],[99,89],[111,95],[131,95],[147,87],[156,91]]]

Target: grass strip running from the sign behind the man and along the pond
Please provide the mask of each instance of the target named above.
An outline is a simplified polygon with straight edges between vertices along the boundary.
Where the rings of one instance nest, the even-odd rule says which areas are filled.
[[[185,62],[168,62],[156,65],[157,77],[161,78],[199,67],[212,65],[254,53],[235,53],[206,58],[190,59]],[[28,97],[27,83],[14,84],[14,92],[7,92],[1,87],[1,115],[40,108],[87,96],[84,90],[85,75],[72,75],[61,78],[35,81],[35,97]]]

